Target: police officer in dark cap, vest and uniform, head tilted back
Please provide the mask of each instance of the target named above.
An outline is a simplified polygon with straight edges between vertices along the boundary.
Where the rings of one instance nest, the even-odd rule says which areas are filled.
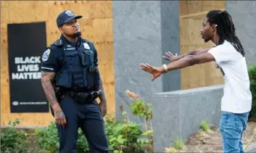
[[[80,37],[81,17],[71,11],[57,17],[62,34],[42,55],[41,83],[57,124],[59,152],[76,152],[78,128],[91,152],[108,152],[103,120],[106,96],[94,44]]]

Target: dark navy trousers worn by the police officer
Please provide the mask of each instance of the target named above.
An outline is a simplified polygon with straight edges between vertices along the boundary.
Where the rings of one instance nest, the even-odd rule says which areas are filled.
[[[68,96],[60,102],[67,124],[57,125],[59,134],[59,152],[77,152],[78,128],[81,128],[91,152],[108,152],[107,135],[104,120],[96,101],[92,104],[79,105]]]

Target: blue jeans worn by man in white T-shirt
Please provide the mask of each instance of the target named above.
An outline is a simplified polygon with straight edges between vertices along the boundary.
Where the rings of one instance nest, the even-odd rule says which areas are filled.
[[[223,152],[244,152],[241,138],[247,128],[249,112],[235,114],[221,112],[220,133],[223,141]]]

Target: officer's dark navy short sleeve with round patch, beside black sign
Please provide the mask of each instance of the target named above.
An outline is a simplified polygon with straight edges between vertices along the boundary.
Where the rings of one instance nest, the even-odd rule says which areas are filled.
[[[58,50],[54,48],[48,48],[44,51],[41,57],[41,71],[56,73],[59,69],[59,54]]]

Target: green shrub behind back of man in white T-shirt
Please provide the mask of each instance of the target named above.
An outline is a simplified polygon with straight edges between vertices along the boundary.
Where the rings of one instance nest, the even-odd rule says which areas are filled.
[[[256,119],[256,65],[249,67],[250,90],[252,91],[252,110],[249,118]]]

